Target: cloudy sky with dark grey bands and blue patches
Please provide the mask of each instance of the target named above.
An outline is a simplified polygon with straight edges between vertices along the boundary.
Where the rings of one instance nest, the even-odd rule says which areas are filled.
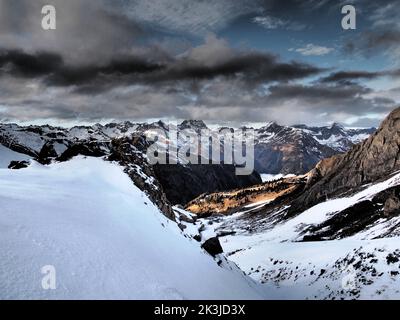
[[[377,125],[400,105],[399,4],[0,0],[0,121]]]

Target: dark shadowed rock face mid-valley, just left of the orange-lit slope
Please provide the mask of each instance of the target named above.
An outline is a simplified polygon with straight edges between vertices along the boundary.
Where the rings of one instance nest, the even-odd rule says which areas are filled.
[[[157,180],[168,200],[185,205],[203,193],[245,188],[261,183],[260,175],[237,176],[233,165],[155,165]]]

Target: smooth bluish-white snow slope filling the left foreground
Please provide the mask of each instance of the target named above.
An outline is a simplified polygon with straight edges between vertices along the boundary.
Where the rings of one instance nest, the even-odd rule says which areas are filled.
[[[218,267],[122,169],[94,158],[0,169],[1,299],[257,299]],[[41,287],[56,268],[57,288]]]

